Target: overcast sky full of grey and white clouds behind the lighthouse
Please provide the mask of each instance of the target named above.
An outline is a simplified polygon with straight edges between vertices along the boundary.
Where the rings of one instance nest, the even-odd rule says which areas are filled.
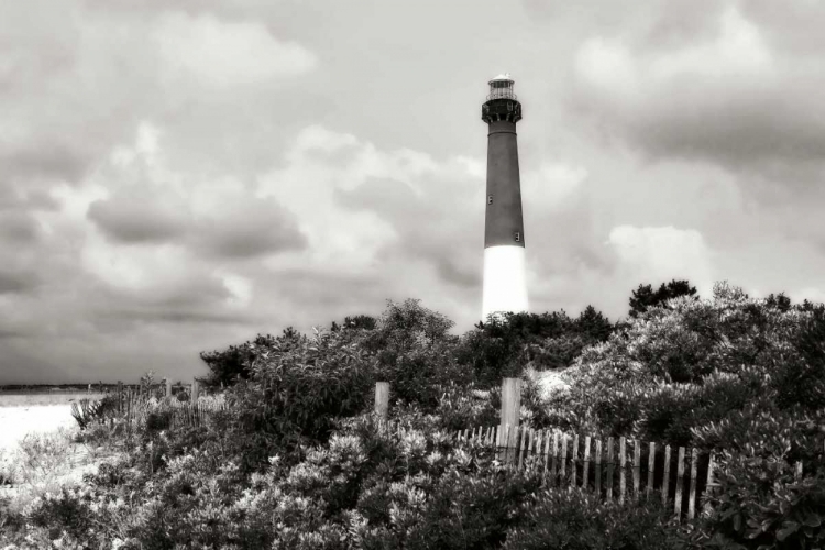
[[[0,0],[0,383],[420,298],[481,315],[486,81],[530,308],[825,298],[825,2]]]

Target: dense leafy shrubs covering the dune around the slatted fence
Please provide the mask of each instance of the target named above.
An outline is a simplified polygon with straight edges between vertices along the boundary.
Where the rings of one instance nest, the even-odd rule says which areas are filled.
[[[147,422],[113,465],[19,510],[20,548],[799,549],[825,542],[825,307],[719,284],[641,285],[628,319],[594,308],[509,315],[470,332],[418,301],[378,319],[287,330],[202,354],[228,410]],[[569,367],[568,388],[527,373]],[[658,499],[619,506],[541,486],[452,430],[497,421],[526,376],[522,421],[715,449],[713,510],[678,525]],[[391,415],[370,415],[376,381]],[[103,436],[88,428],[85,437]],[[103,430],[105,431],[105,430]],[[804,475],[795,480],[792,464]],[[3,538],[4,537],[4,538]]]

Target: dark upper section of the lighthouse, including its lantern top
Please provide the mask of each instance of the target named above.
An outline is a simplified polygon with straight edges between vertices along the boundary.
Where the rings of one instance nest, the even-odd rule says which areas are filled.
[[[482,120],[488,125],[484,248],[525,245],[516,138],[519,119],[521,103],[513,92],[513,79],[507,75],[492,79],[482,109]]]

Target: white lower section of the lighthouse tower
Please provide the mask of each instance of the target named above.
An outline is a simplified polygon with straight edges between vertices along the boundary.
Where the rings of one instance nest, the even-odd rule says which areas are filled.
[[[482,320],[490,314],[527,311],[525,248],[498,245],[484,249]]]

